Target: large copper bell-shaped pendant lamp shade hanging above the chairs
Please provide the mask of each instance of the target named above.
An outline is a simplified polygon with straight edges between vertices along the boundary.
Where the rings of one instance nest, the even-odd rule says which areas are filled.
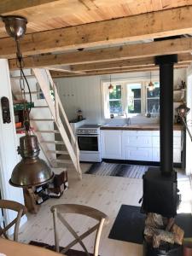
[[[9,183],[15,187],[29,188],[48,183],[54,173],[44,160],[39,159],[38,139],[36,136],[20,137],[18,148],[22,160],[15,166]]]

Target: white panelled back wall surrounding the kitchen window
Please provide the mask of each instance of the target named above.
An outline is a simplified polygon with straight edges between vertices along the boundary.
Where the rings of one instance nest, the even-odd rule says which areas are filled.
[[[150,73],[113,74],[111,78],[112,81],[118,79],[149,79]],[[76,118],[77,110],[80,108],[90,124],[111,121],[104,119],[102,109],[102,82],[108,82],[109,79],[109,75],[55,79],[68,119]],[[152,79],[159,79],[159,72],[152,72]],[[174,86],[180,84],[182,79],[186,81],[186,70],[176,69],[174,71]],[[113,121],[118,122],[118,119]],[[122,122],[122,119],[119,121]],[[142,123],[153,122],[154,119],[143,117],[137,121]]]

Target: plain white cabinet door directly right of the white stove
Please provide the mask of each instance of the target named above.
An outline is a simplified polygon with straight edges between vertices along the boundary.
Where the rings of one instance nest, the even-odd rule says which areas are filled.
[[[122,131],[102,130],[102,158],[123,159],[122,155]]]

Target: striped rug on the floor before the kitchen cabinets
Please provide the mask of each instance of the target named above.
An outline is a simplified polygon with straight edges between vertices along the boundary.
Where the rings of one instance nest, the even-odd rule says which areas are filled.
[[[94,174],[99,176],[116,176],[143,178],[143,174],[148,170],[148,166],[112,164],[112,163],[94,163],[86,174]]]

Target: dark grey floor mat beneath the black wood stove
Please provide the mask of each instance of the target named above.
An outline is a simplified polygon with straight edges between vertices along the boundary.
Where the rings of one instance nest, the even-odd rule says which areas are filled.
[[[144,220],[145,214],[140,212],[140,207],[122,205],[108,238],[142,244]],[[184,230],[184,237],[192,237],[190,213],[177,214],[176,224]]]

